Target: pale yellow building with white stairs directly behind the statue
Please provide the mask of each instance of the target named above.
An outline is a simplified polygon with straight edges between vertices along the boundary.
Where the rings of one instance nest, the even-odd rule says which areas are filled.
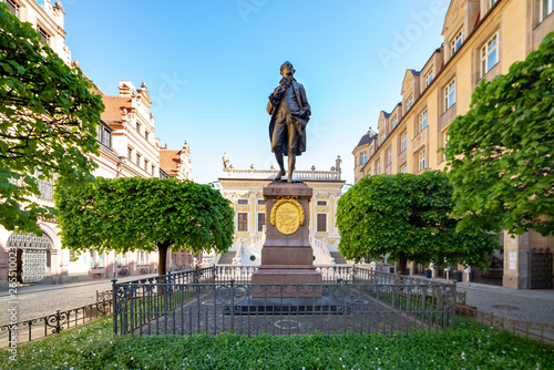
[[[295,171],[295,178],[314,189],[309,205],[309,235],[314,250],[314,264],[335,266],[346,264],[338,251],[340,235],[336,223],[337,201],[342,194],[345,181],[341,177],[340,157],[330,171]],[[223,196],[233,203],[235,209],[235,237],[229,251],[224,255],[208,255],[205,260],[218,265],[257,266],[261,259],[266,223],[269,222],[263,188],[269,185],[277,171],[236,169],[224,156],[223,176],[217,185]]]

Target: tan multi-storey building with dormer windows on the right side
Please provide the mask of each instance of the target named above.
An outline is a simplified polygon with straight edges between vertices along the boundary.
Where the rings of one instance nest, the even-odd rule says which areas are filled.
[[[356,146],[356,182],[368,175],[443,169],[444,155],[438,151],[448,145],[450,123],[469,111],[482,79],[507,73],[554,31],[552,11],[552,0],[452,0],[442,30],[444,43],[419,71],[406,72],[401,101],[390,113],[381,111],[377,133],[368,132]],[[501,235],[500,240],[491,271],[500,274],[504,287],[552,288],[552,237],[531,232]],[[464,280],[475,273],[481,271],[464,269]]]

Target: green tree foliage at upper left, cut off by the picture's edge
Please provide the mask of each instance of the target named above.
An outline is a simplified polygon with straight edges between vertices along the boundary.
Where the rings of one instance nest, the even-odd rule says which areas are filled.
[[[86,176],[98,153],[100,96],[78,68],[66,65],[0,3],[0,225],[41,234],[39,216],[53,208],[33,202],[38,179]]]

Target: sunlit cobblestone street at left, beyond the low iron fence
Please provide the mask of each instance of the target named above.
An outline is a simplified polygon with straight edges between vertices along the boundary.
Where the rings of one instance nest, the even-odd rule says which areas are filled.
[[[119,279],[119,281],[143,279],[156,275],[141,275]],[[16,299],[9,292],[0,291],[0,326],[9,322],[8,309],[17,307],[18,321],[40,318],[96,301],[96,290],[112,289],[111,279],[61,285],[34,285],[18,287]]]

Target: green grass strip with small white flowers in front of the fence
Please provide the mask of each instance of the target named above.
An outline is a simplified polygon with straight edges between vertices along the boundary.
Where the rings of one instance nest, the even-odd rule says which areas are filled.
[[[0,369],[553,369],[554,346],[459,319],[456,330],[305,337],[115,337],[112,317],[0,351]]]

